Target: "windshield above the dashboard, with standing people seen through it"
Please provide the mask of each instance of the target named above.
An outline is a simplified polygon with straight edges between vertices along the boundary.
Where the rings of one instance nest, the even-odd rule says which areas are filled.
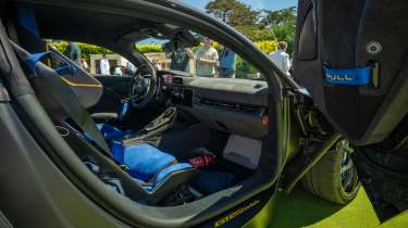
[[[200,34],[190,31],[195,45],[182,39],[148,38],[136,43],[158,69],[189,73],[191,77],[262,79],[259,71],[230,48]]]

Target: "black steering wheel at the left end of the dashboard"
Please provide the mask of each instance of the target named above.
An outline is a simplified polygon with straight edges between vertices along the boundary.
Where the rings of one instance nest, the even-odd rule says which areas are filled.
[[[149,65],[140,65],[129,85],[128,100],[136,109],[145,107],[156,96],[158,80]]]

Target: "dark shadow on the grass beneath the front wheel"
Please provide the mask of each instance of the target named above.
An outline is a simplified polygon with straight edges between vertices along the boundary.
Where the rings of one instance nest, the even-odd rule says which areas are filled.
[[[324,201],[297,187],[290,194],[280,193],[269,228],[297,228],[316,224],[344,205]]]

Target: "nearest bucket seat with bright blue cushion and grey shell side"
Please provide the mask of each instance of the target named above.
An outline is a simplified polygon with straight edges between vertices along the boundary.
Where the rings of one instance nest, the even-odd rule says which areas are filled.
[[[171,154],[147,143],[123,145],[121,141],[113,141],[110,149],[75,91],[62,79],[63,76],[40,62],[52,52],[29,54],[14,42],[11,43],[28,71],[34,74],[33,86],[52,121],[66,126],[71,132],[82,136],[116,164],[125,166],[152,202],[159,202],[198,176],[199,170],[189,163],[178,163]]]

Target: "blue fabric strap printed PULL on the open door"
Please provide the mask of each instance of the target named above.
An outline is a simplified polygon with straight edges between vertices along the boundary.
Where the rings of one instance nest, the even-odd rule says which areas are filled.
[[[325,83],[331,85],[364,86],[371,84],[372,67],[332,69],[324,67]]]

